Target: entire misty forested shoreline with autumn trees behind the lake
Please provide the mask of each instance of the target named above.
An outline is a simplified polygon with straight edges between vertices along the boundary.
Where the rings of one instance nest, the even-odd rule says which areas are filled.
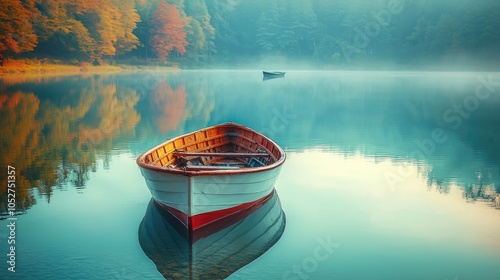
[[[500,2],[0,0],[0,54],[70,64],[498,69]]]

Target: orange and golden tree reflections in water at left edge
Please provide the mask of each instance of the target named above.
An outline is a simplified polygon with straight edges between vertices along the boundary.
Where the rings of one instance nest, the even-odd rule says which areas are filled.
[[[84,79],[80,88],[53,86],[40,92],[0,94],[1,165],[11,165],[16,174],[16,209],[35,204],[35,193],[50,202],[54,188],[72,185],[83,189],[97,160],[109,165],[110,151],[119,139],[133,134],[140,115],[134,109],[139,96],[104,77]],[[39,88],[38,88],[39,89]],[[51,95],[53,95],[51,97]],[[0,179],[5,182],[2,172]],[[0,193],[6,197],[7,184]],[[35,192],[36,190],[36,192]],[[7,212],[6,199],[1,209]]]

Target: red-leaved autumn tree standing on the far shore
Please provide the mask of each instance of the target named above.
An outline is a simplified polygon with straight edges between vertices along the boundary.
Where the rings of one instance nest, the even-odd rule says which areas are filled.
[[[183,54],[186,52],[186,31],[179,10],[175,5],[165,1],[158,3],[150,22],[151,46],[161,61],[175,50]]]

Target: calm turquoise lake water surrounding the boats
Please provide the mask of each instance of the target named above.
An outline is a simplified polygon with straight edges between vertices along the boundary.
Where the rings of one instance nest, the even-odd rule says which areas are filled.
[[[288,156],[256,213],[283,213],[277,240],[241,265],[237,236],[218,239],[229,279],[500,279],[499,73],[144,72],[0,89],[0,279],[187,278],[186,258],[141,247],[170,246],[141,230],[161,239],[170,225],[135,159],[228,121]]]

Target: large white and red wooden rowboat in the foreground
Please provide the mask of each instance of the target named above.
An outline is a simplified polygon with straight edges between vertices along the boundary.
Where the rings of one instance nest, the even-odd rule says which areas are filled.
[[[194,230],[265,199],[285,158],[266,136],[224,123],[168,140],[137,164],[153,198]]]

